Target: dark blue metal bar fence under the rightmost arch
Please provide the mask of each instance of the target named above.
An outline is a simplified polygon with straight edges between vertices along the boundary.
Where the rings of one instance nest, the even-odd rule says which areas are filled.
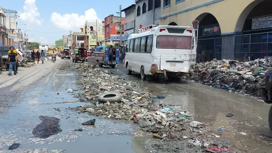
[[[237,35],[234,45],[235,60],[272,58],[272,32]]]

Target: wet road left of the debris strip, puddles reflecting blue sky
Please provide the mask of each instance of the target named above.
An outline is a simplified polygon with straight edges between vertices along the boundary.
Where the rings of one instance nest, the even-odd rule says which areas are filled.
[[[77,91],[78,74],[71,70],[72,65],[71,60],[57,59],[56,64],[50,65],[52,70],[43,72],[37,80],[33,78],[34,81],[23,88],[14,87],[18,82],[0,88],[0,153],[145,152],[140,140],[134,138],[134,125],[68,109],[85,105],[73,97],[81,91]],[[37,72],[41,70],[37,69]],[[67,89],[76,91],[68,92]],[[60,111],[54,108],[60,108]],[[59,118],[63,131],[47,139],[33,138],[32,130],[41,123],[40,115]],[[94,118],[95,126],[81,125]],[[74,131],[79,128],[83,131]],[[7,151],[13,143],[21,145]]]

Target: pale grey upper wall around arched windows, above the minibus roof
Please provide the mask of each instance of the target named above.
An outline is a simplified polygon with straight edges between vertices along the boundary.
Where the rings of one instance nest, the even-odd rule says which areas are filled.
[[[146,13],[142,14],[142,5],[143,3],[146,4]],[[135,29],[139,29],[139,25],[141,24],[142,27],[152,25],[152,24],[159,24],[159,18],[161,17],[161,8],[155,8],[154,10],[154,1],[153,1],[153,9],[148,11],[148,0],[138,0],[136,1],[136,19],[135,19]],[[140,16],[137,16],[137,8],[140,6]]]

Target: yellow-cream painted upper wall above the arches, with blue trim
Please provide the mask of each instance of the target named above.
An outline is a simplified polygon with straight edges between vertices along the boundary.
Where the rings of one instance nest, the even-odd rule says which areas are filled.
[[[161,7],[161,25],[176,22],[178,25],[191,26],[193,20],[201,20],[203,13],[211,13],[218,21],[221,33],[242,31],[244,21],[257,4],[264,0],[185,0],[171,6]],[[161,3],[163,5],[163,1]]]

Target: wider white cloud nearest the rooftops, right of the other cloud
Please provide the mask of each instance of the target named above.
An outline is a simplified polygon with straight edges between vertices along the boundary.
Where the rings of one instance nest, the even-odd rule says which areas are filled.
[[[84,15],[75,13],[64,14],[54,12],[51,14],[51,22],[60,29],[64,30],[79,30],[82,25],[85,25],[86,20],[99,20],[101,21],[93,8],[85,11]]]

